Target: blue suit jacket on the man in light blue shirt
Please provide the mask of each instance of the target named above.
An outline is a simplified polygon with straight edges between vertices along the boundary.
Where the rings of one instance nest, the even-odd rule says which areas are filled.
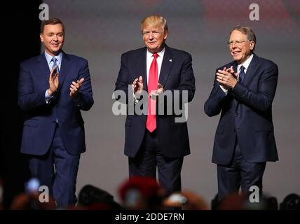
[[[44,155],[50,148],[56,120],[64,146],[72,155],[86,151],[81,110],[93,106],[90,73],[86,59],[63,52],[60,67],[60,85],[55,96],[46,104],[50,69],[45,54],[32,57],[20,64],[18,104],[25,111],[21,152]],[[72,81],[84,78],[76,99],[69,97]]]

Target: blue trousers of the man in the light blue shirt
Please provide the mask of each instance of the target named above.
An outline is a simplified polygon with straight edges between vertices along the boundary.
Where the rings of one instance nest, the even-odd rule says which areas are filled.
[[[53,142],[46,155],[34,155],[29,159],[32,176],[39,179],[41,186],[48,186],[57,207],[67,207],[77,202],[75,190],[79,158],[80,155],[71,155],[67,152],[57,125]]]

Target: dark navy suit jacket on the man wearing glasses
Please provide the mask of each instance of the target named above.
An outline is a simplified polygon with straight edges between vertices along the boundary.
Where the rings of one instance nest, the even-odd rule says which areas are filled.
[[[231,65],[237,71],[236,62],[224,66],[229,68]],[[278,160],[272,121],[277,80],[278,66],[257,55],[253,56],[243,83],[236,83],[227,95],[214,80],[214,87],[204,106],[207,116],[216,116],[221,111],[212,162],[229,164],[236,140],[248,162]]]

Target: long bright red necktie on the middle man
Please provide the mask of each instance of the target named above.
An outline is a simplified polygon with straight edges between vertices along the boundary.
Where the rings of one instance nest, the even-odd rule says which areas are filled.
[[[148,94],[157,90],[158,83],[158,65],[156,62],[158,54],[154,53],[152,57],[154,57],[154,59],[149,70]],[[151,97],[149,97],[148,100],[146,128],[149,132],[153,132],[156,129],[156,99],[152,99]]]

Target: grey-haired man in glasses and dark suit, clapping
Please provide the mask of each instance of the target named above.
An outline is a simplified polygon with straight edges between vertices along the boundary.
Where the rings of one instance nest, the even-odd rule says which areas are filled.
[[[221,118],[214,138],[212,162],[217,164],[219,200],[241,188],[262,189],[266,161],[278,160],[272,102],[278,66],[254,54],[256,37],[250,27],[234,27],[229,51],[234,61],[217,69],[205,102],[207,116]]]

